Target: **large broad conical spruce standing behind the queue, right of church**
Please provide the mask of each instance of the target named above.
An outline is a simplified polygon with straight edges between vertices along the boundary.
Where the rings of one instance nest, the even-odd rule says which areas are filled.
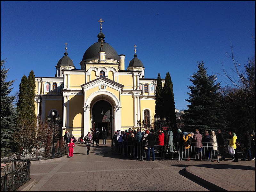
[[[220,83],[215,83],[216,75],[208,76],[203,61],[197,62],[198,71],[189,79],[188,110],[184,110],[183,120],[188,129],[216,130],[225,127],[219,92]]]

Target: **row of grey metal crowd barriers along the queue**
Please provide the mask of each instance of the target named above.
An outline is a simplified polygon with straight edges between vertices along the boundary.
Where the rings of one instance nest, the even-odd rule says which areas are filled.
[[[202,142],[203,147],[197,147],[196,142],[192,142],[190,147],[184,145],[184,142],[164,142],[165,145],[158,145],[159,142],[154,142],[154,153],[156,159],[177,159],[180,160],[210,160],[219,162],[219,152],[213,150],[211,142]],[[216,143],[217,144],[217,143]],[[218,146],[218,145],[217,145]],[[141,142],[117,142],[112,141],[112,150],[120,155],[127,157],[139,158],[140,160],[147,159],[148,150],[144,150]],[[188,148],[188,149],[186,149]],[[152,153],[150,153],[152,159]]]

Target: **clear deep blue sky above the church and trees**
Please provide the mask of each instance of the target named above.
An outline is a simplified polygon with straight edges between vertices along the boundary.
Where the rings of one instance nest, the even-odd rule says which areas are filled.
[[[80,69],[85,50],[98,40],[100,18],[105,42],[126,56],[125,69],[136,44],[145,78],[170,72],[180,110],[187,109],[197,61],[208,74],[220,73],[224,85],[221,63],[232,73],[231,44],[241,64],[255,55],[254,1],[1,1],[1,60],[10,68],[8,80],[16,80],[12,94],[31,70],[54,76],[66,42]]]

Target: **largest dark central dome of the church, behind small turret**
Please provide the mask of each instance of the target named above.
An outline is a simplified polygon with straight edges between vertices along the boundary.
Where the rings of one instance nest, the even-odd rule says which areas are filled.
[[[102,42],[102,44],[104,47],[104,51],[106,53],[106,59],[114,59],[114,60],[120,61],[120,58],[118,57],[116,50],[111,45],[109,45],[106,42]],[[92,44],[85,51],[82,61],[87,60],[87,59],[98,58],[100,46],[101,46],[101,42],[96,42],[96,43]]]

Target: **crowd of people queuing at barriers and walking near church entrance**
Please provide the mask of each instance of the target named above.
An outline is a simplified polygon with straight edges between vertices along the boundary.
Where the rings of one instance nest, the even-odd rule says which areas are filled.
[[[73,136],[69,138],[70,134],[68,131],[65,132],[64,139],[66,140],[67,145],[73,151],[73,144],[76,142],[84,143],[87,147],[87,154],[89,155],[90,147],[99,145],[99,130],[88,132],[88,134],[83,138],[80,137],[78,140]],[[203,135],[203,136],[202,136]],[[102,139],[103,144],[106,144],[107,131],[106,128],[102,127]],[[236,133],[228,132],[228,138],[225,138],[222,131],[217,130],[216,134],[213,130],[210,131],[210,134],[207,130],[200,134],[199,130],[196,129],[195,132],[182,132],[178,129],[176,136],[173,136],[173,132],[169,130],[168,132],[158,129],[157,133],[154,129],[146,130],[141,132],[140,128],[132,130],[121,131],[117,130],[113,136],[113,144],[117,147],[118,144],[124,144],[124,149],[119,148],[119,153],[124,153],[126,156],[132,156],[140,158],[146,157],[147,161],[155,160],[155,153],[157,152],[157,157],[160,160],[165,160],[166,154],[177,152],[176,143],[179,143],[180,150],[180,159],[188,160],[196,159],[202,161],[202,159],[209,159],[212,161],[217,161],[218,155],[220,154],[220,161],[226,161],[226,156],[224,152],[224,145],[226,142],[229,147],[234,149],[234,155],[232,155],[230,160],[238,162],[238,147],[240,146],[237,143]],[[72,141],[72,142],[71,142]],[[255,160],[255,133],[249,134],[249,131],[244,133],[244,157],[241,160],[251,161]],[[130,143],[132,142],[132,143]],[[73,144],[70,144],[73,143]],[[132,145],[133,147],[129,147]],[[155,146],[156,145],[156,146]],[[141,150],[142,149],[142,150]],[[219,150],[219,151],[218,151]],[[68,157],[73,157],[70,154]],[[170,157],[170,156],[169,156]],[[248,158],[248,159],[247,159]]]

